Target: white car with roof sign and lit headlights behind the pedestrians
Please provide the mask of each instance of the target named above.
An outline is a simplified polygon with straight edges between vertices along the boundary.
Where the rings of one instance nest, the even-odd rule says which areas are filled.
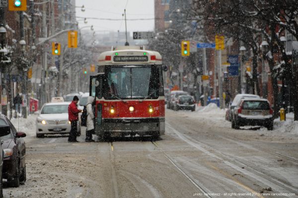
[[[71,132],[71,122],[68,116],[70,102],[51,102],[43,105],[36,119],[36,137],[45,134],[68,134]],[[79,122],[77,131],[80,134]]]

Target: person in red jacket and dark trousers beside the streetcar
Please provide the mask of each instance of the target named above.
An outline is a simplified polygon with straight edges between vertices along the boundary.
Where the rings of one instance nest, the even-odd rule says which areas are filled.
[[[76,133],[77,133],[77,121],[78,121],[78,113],[81,112],[77,108],[78,98],[74,96],[72,103],[70,103],[68,107],[69,112],[69,121],[71,121],[71,132],[68,141],[69,142],[77,142]]]

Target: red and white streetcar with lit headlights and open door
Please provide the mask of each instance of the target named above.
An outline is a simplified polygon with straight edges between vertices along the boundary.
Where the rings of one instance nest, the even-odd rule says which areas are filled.
[[[158,52],[140,47],[101,53],[98,74],[90,77],[90,96],[96,97],[95,134],[163,135],[163,69]]]

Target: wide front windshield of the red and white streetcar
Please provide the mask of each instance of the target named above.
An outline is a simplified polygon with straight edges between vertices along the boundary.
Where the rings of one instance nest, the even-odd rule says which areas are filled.
[[[115,66],[106,68],[105,99],[157,99],[160,78],[156,66]]]

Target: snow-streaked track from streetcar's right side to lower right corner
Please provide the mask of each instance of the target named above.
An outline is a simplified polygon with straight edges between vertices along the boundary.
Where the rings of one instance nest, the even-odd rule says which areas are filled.
[[[181,132],[179,132],[179,131],[177,131],[176,129],[174,129],[173,127],[171,127],[168,123],[166,124],[166,126],[169,127],[169,128],[170,128],[170,129],[171,129],[171,130],[172,130],[172,131],[173,131],[173,132],[174,132],[180,139],[182,139],[182,140],[185,141],[186,143],[188,143],[188,144],[190,144],[190,145],[192,145],[192,146],[198,148],[200,151],[203,151],[203,152],[206,153],[207,155],[210,155],[210,156],[212,156],[212,157],[215,157],[215,158],[218,159],[218,160],[224,161],[224,163],[225,163],[226,165],[230,166],[231,168],[233,168],[233,169],[235,169],[235,170],[237,170],[237,171],[240,171],[240,172],[242,172],[242,173],[244,173],[244,174],[246,174],[246,175],[248,175],[248,176],[250,176],[250,177],[252,177],[252,178],[254,178],[254,179],[258,179],[258,181],[260,181],[260,182],[262,182],[262,183],[264,183],[265,181],[267,181],[267,182],[265,182],[265,183],[267,183],[267,184],[268,184],[268,182],[269,182],[269,183],[271,183],[271,184],[275,184],[276,186],[279,186],[279,187],[281,187],[280,185],[282,185],[284,188],[285,188],[285,187],[286,187],[286,188],[289,188],[289,189],[291,189],[292,191],[296,191],[295,193],[298,193],[298,188],[296,188],[296,187],[294,187],[294,186],[292,186],[292,185],[290,185],[290,184],[287,184],[287,183],[285,183],[285,182],[283,182],[283,181],[281,181],[281,180],[279,180],[279,179],[277,179],[277,178],[275,178],[275,177],[269,176],[268,174],[266,174],[266,173],[264,173],[264,172],[262,172],[262,171],[260,171],[260,170],[257,170],[257,169],[255,169],[255,168],[253,168],[253,167],[251,167],[251,166],[249,166],[249,165],[247,165],[247,164],[245,164],[245,163],[243,163],[243,162],[240,161],[239,159],[235,159],[235,158],[236,158],[235,156],[229,156],[229,155],[226,155],[226,154],[224,154],[223,152],[218,151],[217,149],[213,148],[213,147],[212,147],[211,145],[209,145],[209,144],[202,143],[202,142],[200,142],[200,141],[198,141],[198,140],[192,140],[192,139],[189,138],[187,135],[184,135],[184,134],[182,134]],[[235,164],[235,162],[234,162],[234,163],[231,163],[231,160],[226,161],[226,160],[224,160],[223,158],[221,158],[221,157],[219,157],[219,156],[217,156],[217,155],[211,153],[210,151],[208,151],[208,150],[202,148],[199,144],[204,145],[204,146],[207,146],[207,147],[209,147],[209,148],[212,148],[212,150],[213,150],[214,152],[216,152],[216,153],[219,154],[219,155],[222,155],[224,158],[227,158],[227,159],[233,159],[234,161],[237,161],[238,163],[244,164],[245,166],[247,166],[247,167],[251,168],[252,170],[254,170],[255,172],[257,172],[258,174],[261,173],[261,174],[263,175],[264,178],[261,178],[260,176],[257,176],[256,174],[252,173],[251,171],[249,172],[249,171],[243,170],[241,167],[239,167],[237,164]],[[250,173],[250,174],[248,174],[248,173]],[[267,179],[265,179],[265,177],[267,177]],[[270,181],[270,180],[271,180],[271,181]],[[272,180],[273,180],[273,181],[272,181]],[[265,184],[265,183],[264,183],[264,184]],[[278,184],[277,184],[277,183],[278,183]]]

